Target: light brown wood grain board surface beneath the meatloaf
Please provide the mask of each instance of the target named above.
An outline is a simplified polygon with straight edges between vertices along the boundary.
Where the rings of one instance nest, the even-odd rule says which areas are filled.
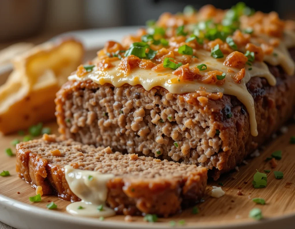
[[[50,126],[53,133],[57,133],[57,125],[54,122],[45,126]],[[239,171],[225,174],[218,181],[209,180],[204,197],[205,201],[197,205],[199,214],[194,215],[191,213],[191,209],[187,209],[178,215],[167,219],[161,218],[159,221],[174,220],[178,222],[178,220],[185,220],[186,225],[200,225],[202,223],[220,225],[252,221],[248,218],[248,214],[254,207],[260,208],[265,218],[287,214],[295,215],[295,145],[289,143],[292,135],[295,135],[295,124],[291,123],[286,134],[278,134],[276,139],[268,142],[265,149],[260,150],[260,156],[257,158],[246,159],[246,163],[239,166]],[[10,142],[15,138],[22,139],[17,134],[0,137],[0,170],[8,170],[11,174],[9,177],[0,177],[0,194],[45,209],[48,202],[54,201],[58,205],[58,209],[55,211],[65,212],[65,207],[69,202],[60,200],[55,196],[43,196],[42,201],[36,203],[29,201],[29,197],[35,195],[35,189],[17,176],[15,156],[9,157],[5,153],[7,147],[11,147],[15,153],[14,146],[10,145]],[[277,167],[272,169],[271,164],[264,160],[276,150],[283,151],[282,159],[277,161]],[[265,169],[271,170],[267,174],[266,188],[253,188],[251,182],[256,169],[260,172]],[[283,179],[276,179],[273,171],[283,172]],[[225,191],[225,195],[219,199],[210,197],[209,193],[212,186],[219,186],[219,182],[224,184],[222,189]],[[237,195],[237,192],[242,192],[243,195]],[[264,198],[266,205],[254,203],[252,198],[255,197]],[[132,218],[135,221],[142,222],[142,217]],[[106,220],[124,220],[124,216],[114,216]]]

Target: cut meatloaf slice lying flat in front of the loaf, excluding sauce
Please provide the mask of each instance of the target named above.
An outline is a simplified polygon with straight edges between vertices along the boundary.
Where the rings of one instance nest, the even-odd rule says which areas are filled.
[[[200,200],[207,184],[207,169],[196,165],[161,161],[136,154],[113,153],[54,135],[17,144],[17,172],[44,194],[79,200],[69,189],[64,166],[114,174],[107,183],[106,204],[117,213],[141,212],[168,216]]]

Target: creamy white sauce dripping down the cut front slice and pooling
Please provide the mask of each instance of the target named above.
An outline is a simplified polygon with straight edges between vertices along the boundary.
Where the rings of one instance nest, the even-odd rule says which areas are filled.
[[[81,199],[79,202],[69,204],[66,207],[67,212],[72,215],[86,217],[115,215],[115,211],[106,206],[108,192],[106,184],[113,177],[113,174],[101,174],[96,171],[74,169],[69,165],[65,166],[65,179],[69,188]],[[103,210],[99,211],[97,209],[99,205],[103,205]]]

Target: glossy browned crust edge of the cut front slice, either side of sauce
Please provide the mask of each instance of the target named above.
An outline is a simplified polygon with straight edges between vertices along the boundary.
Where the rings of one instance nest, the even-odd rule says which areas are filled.
[[[60,141],[53,139],[51,141]],[[34,141],[42,141],[34,140]],[[61,199],[79,201],[65,179],[64,168],[50,164],[37,153],[26,149],[27,143],[17,144],[16,168],[19,177],[32,187],[42,186],[45,195],[55,194]],[[161,179],[138,182],[132,177],[115,177],[107,184],[107,205],[118,214],[140,215],[142,212],[168,216],[181,210],[181,205],[192,205],[204,195],[207,169],[198,168],[180,181]]]

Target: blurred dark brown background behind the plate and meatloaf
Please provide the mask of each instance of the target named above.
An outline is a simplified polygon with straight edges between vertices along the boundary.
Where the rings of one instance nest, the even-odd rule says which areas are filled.
[[[0,49],[14,42],[43,42],[62,32],[144,25],[164,11],[176,13],[191,4],[228,9],[239,1],[220,0],[0,0]],[[295,1],[244,1],[263,12],[295,19]]]

